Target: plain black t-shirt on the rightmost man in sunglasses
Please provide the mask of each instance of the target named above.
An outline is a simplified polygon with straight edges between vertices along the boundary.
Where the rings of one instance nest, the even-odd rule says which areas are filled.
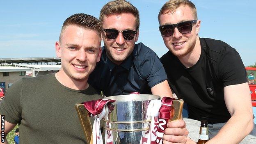
[[[191,119],[226,122],[231,115],[223,88],[247,82],[245,66],[238,52],[223,41],[200,38],[200,44],[200,58],[190,68],[186,69],[170,51],[160,60],[172,91],[187,103]]]

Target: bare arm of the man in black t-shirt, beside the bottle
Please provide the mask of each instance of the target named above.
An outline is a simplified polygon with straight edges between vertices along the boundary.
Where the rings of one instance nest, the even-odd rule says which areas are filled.
[[[224,87],[224,99],[231,118],[207,144],[238,144],[253,129],[248,83]]]

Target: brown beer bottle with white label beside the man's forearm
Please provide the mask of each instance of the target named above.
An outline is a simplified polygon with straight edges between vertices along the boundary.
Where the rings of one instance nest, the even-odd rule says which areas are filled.
[[[205,144],[208,140],[208,122],[206,120],[202,120],[197,144]]]

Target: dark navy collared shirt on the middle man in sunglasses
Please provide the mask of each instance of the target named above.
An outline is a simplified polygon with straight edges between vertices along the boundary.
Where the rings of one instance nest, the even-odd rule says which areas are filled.
[[[105,47],[100,62],[90,74],[88,83],[105,96],[139,92],[151,94],[151,88],[167,80],[159,57],[143,43],[135,44],[133,53],[120,65],[106,55]]]

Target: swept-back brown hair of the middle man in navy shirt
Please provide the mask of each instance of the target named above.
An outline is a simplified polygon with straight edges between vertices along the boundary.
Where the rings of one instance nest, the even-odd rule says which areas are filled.
[[[122,14],[130,13],[135,16],[136,19],[136,30],[139,29],[139,11],[130,2],[125,0],[113,0],[107,2],[101,9],[100,21],[103,21],[104,16],[109,16],[111,14]]]

